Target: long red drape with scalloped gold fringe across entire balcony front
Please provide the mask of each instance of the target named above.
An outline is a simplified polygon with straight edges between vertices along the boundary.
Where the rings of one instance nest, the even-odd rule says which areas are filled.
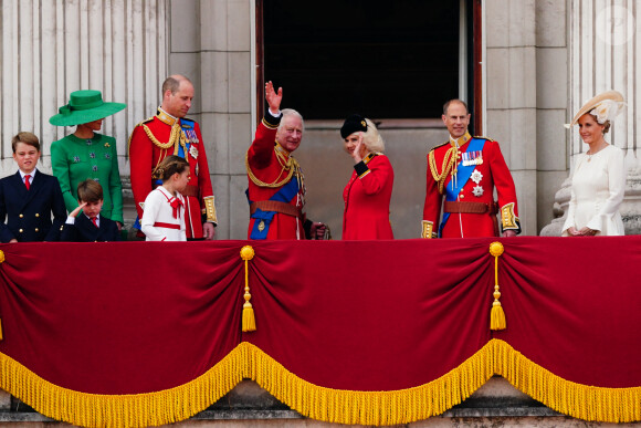
[[[626,415],[618,409],[641,397],[641,238],[502,239],[504,331],[490,330],[493,241],[1,244],[0,383],[31,397],[35,403],[25,401],[36,410],[78,425],[105,419],[92,419],[93,410],[83,416],[86,421],[75,418],[60,399],[48,401],[52,393],[38,395],[39,383],[56,394],[56,388],[81,393],[76,401],[99,395],[99,403],[88,397],[74,408],[104,406],[94,409],[101,418],[124,425],[189,417],[242,377],[311,417],[401,424],[443,411],[497,373],[570,415],[637,420],[638,404]],[[245,244],[255,251],[248,265],[256,331],[249,333],[241,332]],[[476,368],[448,377],[472,359]],[[549,380],[553,375],[565,389]],[[387,395],[376,395],[403,390],[402,399],[425,407],[424,400],[439,398],[411,396],[407,388],[439,378],[455,397],[430,411],[408,410],[402,419],[390,416]],[[309,384],[313,394],[274,392],[275,384],[292,379]],[[612,416],[575,411],[574,383],[614,388],[618,398],[598,405]],[[185,385],[189,392],[172,395]],[[369,410],[361,409],[346,419],[327,403],[307,403],[327,390],[371,392],[368,399],[380,400],[371,411],[382,416],[368,419]],[[157,411],[148,404],[157,392],[165,401],[154,406],[167,403],[167,415],[145,418],[145,411]],[[559,398],[565,395],[569,398]],[[114,405],[112,396],[128,401]],[[187,403],[195,396],[198,405]],[[306,410],[314,406],[323,411]],[[132,409],[141,416],[130,419]]]

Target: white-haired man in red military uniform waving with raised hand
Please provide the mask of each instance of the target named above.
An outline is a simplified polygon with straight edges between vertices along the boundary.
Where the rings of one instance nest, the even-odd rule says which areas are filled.
[[[245,158],[249,239],[322,239],[325,225],[305,219],[305,179],[292,156],[303,138],[303,117],[294,109],[281,112],[283,88],[265,85],[267,114]]]

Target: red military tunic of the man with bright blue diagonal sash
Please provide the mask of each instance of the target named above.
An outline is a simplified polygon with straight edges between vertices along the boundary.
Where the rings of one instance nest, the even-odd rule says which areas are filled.
[[[471,137],[470,134],[465,134],[465,136],[459,139],[460,148],[458,150],[455,148],[451,150],[452,147],[455,147],[455,144],[449,142],[433,148],[428,155],[422,238],[435,238],[439,230],[441,206],[446,194],[445,187],[451,185],[454,165],[453,160],[451,168],[448,168],[450,163],[443,161],[446,156],[455,157],[456,166],[461,164],[460,160],[462,158],[476,159],[480,161],[480,165],[475,165],[472,176],[461,187],[455,203],[449,205],[450,208],[456,208],[450,213],[450,218],[443,228],[441,237],[494,237],[498,232],[495,230],[495,215],[497,211],[501,215],[501,228],[503,231],[515,230],[517,233],[521,231],[516,205],[516,189],[509,169],[498,147],[498,143],[483,137],[475,138],[485,139],[481,153],[471,152],[466,154]],[[449,150],[450,154],[448,155]],[[441,180],[441,185],[439,179]],[[497,206],[494,202],[494,187],[496,187],[498,195]],[[482,205],[485,205],[486,211],[479,213]],[[464,212],[465,210],[472,210],[474,212]]]

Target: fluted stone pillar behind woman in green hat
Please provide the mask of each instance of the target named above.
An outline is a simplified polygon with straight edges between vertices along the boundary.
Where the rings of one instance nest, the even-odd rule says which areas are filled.
[[[75,128],[52,126],[49,118],[71,92],[98,90],[105,101],[127,104],[105,119],[102,133],[116,138],[128,182],[129,133],[156,111],[167,73],[166,1],[0,0],[2,175],[15,170],[11,137],[20,131],[40,137],[40,168],[51,171],[51,143]]]

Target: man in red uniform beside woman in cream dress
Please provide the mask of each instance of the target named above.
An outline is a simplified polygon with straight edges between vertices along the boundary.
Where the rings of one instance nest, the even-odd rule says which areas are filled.
[[[521,232],[516,190],[498,143],[470,136],[470,114],[460,100],[445,103],[442,119],[450,140],[428,154],[422,238],[497,237],[496,213],[502,236],[516,236]]]

